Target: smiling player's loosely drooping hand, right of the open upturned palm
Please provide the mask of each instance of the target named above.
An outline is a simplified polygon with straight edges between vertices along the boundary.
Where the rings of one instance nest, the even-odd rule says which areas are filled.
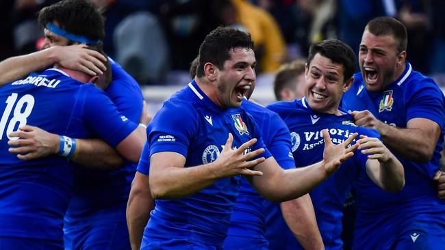
[[[385,163],[392,158],[392,153],[386,148],[383,143],[375,137],[367,137],[360,135],[360,139],[357,141],[359,144],[358,150],[361,150],[361,154],[369,154],[369,159],[376,159],[381,163]]]

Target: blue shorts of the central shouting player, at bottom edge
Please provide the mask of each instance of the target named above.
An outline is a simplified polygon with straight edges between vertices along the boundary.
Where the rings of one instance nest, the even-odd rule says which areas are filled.
[[[222,246],[207,245],[202,242],[196,242],[187,239],[158,239],[158,238],[148,238],[144,236],[142,238],[142,244],[140,245],[140,250],[223,250]]]

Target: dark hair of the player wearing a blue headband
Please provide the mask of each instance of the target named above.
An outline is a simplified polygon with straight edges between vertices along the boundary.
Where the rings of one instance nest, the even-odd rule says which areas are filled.
[[[105,18],[90,0],[63,0],[49,5],[38,14],[40,27],[57,22],[61,29],[90,40],[105,38]]]

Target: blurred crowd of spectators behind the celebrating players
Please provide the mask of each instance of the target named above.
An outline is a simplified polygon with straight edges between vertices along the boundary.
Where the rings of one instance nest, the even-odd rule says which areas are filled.
[[[107,18],[105,52],[141,85],[162,85],[172,72],[187,72],[205,35],[220,25],[251,33],[261,74],[305,58],[309,45],[323,39],[337,38],[358,53],[364,26],[376,16],[401,20],[409,34],[408,61],[445,85],[442,0],[94,1]],[[0,59],[38,50],[43,33],[36,13],[55,2],[0,2]]]

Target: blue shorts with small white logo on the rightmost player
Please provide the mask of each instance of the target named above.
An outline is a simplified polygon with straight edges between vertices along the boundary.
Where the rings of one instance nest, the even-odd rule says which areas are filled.
[[[366,227],[356,228],[353,249],[444,249],[443,212],[373,218],[364,224],[362,218],[357,215],[357,225]]]

